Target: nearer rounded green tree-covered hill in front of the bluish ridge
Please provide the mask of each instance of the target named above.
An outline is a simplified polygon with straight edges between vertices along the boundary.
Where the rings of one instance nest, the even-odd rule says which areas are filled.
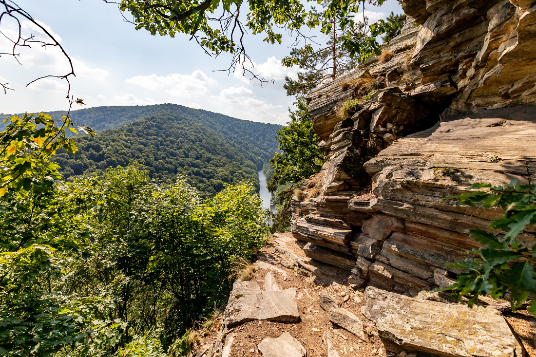
[[[274,135],[268,129],[271,125],[234,121],[227,123],[227,130],[235,135],[236,142],[240,142],[239,133],[245,131],[239,125],[242,123],[259,124],[251,135],[258,136],[260,143],[265,144]],[[150,169],[150,177],[158,181],[171,182],[177,174],[187,175],[187,182],[205,197],[222,190],[225,183],[237,184],[243,180],[253,182],[258,190],[257,169],[269,159],[269,151],[252,147],[250,152],[229,141],[221,129],[216,131],[211,127],[218,128],[217,122],[207,120],[201,124],[191,117],[167,111],[103,131],[94,138],[75,137],[79,151],[75,155],[58,151],[54,161],[61,166],[65,178],[127,166],[131,160],[136,160],[143,162]],[[255,125],[251,127],[253,130]],[[253,143],[251,140],[251,146]]]

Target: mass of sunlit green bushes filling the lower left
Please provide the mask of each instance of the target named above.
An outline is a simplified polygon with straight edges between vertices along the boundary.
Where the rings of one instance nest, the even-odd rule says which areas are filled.
[[[24,120],[0,135],[11,175],[0,197],[0,353],[163,356],[227,299],[233,259],[262,244],[260,198],[243,183],[203,201],[185,177],[151,183],[137,163],[66,183],[48,145],[75,151],[68,125]],[[37,158],[19,175],[29,185],[12,179],[15,152]]]

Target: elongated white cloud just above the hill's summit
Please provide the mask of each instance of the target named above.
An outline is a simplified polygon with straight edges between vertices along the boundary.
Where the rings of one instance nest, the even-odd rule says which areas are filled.
[[[164,91],[180,98],[193,98],[209,92],[207,86],[217,82],[205,75],[201,70],[193,71],[191,75],[173,73],[167,76],[136,76],[126,79],[126,83],[142,86],[153,91]]]

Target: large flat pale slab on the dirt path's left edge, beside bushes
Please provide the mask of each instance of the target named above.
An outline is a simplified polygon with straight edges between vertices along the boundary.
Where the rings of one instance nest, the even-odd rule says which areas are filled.
[[[269,272],[268,274],[272,276],[268,280],[273,289],[274,284],[276,287],[278,285],[275,279],[271,280],[273,273]],[[232,328],[253,320],[299,322],[300,313],[296,306],[296,300],[293,298],[295,295],[295,288],[284,291],[262,291],[256,282],[235,282],[225,309],[223,323],[228,328]]]

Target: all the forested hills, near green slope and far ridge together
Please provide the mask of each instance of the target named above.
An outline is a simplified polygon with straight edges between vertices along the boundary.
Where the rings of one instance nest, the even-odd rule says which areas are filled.
[[[275,132],[280,125],[178,105],[98,107],[70,116],[77,124],[97,129],[126,124],[94,138],[73,137],[79,149],[74,155],[58,151],[54,161],[68,180],[139,161],[148,167],[151,179],[172,182],[185,175],[204,197],[211,197],[227,183],[250,181],[258,190],[257,172],[278,150]]]

